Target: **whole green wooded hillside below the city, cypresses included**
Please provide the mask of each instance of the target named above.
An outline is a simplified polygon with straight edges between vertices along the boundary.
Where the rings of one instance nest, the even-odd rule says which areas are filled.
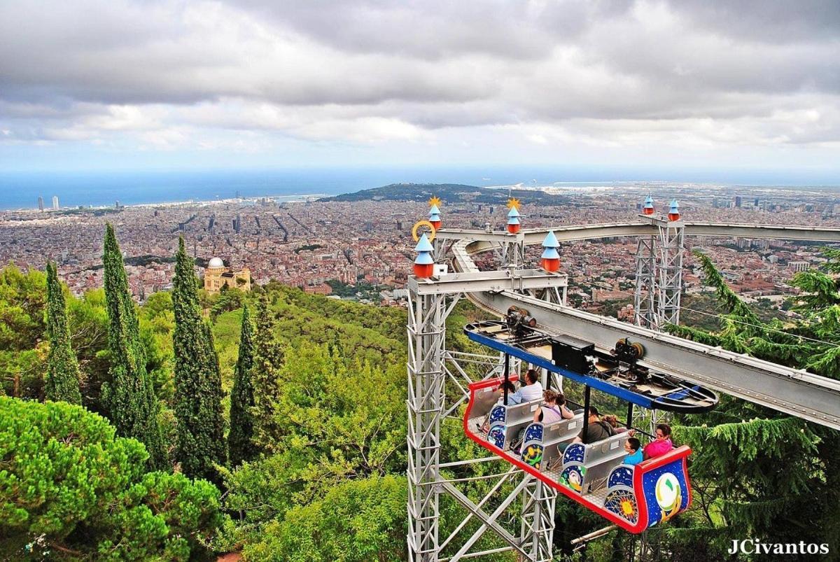
[[[670,329],[840,378],[840,292],[828,275],[840,270],[840,260],[827,257],[827,273],[795,277],[804,292],[796,323],[764,323],[701,257],[722,308],[719,328]],[[156,293],[139,307],[114,300],[122,293],[113,286],[73,297],[55,284],[53,272],[50,288],[42,272],[13,265],[0,270],[0,388],[6,395],[0,398],[0,554],[405,559],[406,312],[277,283],[211,297],[196,292],[189,261],[181,256],[180,294]],[[118,260],[110,266],[119,278]],[[460,329],[476,314],[465,303],[455,307],[449,349],[479,350]],[[113,318],[128,320],[114,328]],[[130,338],[123,341],[120,330]],[[182,340],[176,354],[173,341]],[[60,345],[61,355],[52,345]],[[53,388],[48,378],[67,388],[77,381],[81,406],[45,402]],[[158,413],[136,419],[152,433],[121,434],[121,412],[102,388],[141,380],[148,381],[153,403],[137,412]],[[76,402],[75,393],[66,396]],[[651,559],[732,559],[728,546],[744,537],[805,539],[840,549],[837,432],[728,397],[715,411],[674,425],[677,442],[694,450],[695,499],[689,512],[648,533]],[[140,438],[155,432],[162,447],[160,460],[150,465]],[[465,439],[457,416],[444,420],[441,439],[442,459],[486,456]],[[494,482],[484,477],[506,468],[491,461],[443,473],[478,476],[465,483],[465,493],[478,501]],[[440,509],[447,536],[465,512],[445,495]],[[570,539],[604,525],[563,497],[556,523],[561,559],[580,559]],[[478,526],[470,521],[461,533],[469,536]],[[637,541],[614,531],[589,544],[587,559],[628,559]],[[501,546],[485,533],[477,548]],[[488,559],[514,558],[499,553]]]

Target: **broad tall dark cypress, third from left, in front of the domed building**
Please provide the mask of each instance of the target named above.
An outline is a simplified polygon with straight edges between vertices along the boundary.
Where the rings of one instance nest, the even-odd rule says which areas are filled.
[[[175,309],[176,461],[192,478],[218,481],[214,464],[227,460],[223,434],[222,381],[213,334],[198,304],[195,263],[178,242],[172,306]]]

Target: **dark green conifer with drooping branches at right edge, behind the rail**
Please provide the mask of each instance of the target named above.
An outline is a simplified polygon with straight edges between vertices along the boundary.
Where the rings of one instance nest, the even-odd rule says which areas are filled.
[[[727,312],[720,318],[722,329],[710,334],[670,326],[669,331],[840,378],[840,293],[835,282],[818,272],[795,276],[791,284],[811,293],[803,297],[805,319],[792,328],[778,320],[762,323],[711,260],[696,257]],[[827,269],[834,266],[830,262]],[[711,554],[722,555],[732,538],[747,536],[773,543],[827,543],[832,552],[840,548],[836,431],[726,396],[715,410],[680,417],[680,423],[675,437],[693,449],[692,487],[700,509],[690,529],[669,533],[672,554],[680,544],[685,552],[711,549]]]

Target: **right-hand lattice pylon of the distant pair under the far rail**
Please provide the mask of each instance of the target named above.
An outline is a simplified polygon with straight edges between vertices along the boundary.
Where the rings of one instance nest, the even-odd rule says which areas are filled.
[[[657,316],[659,328],[680,323],[682,259],[685,225],[682,221],[659,222],[659,275],[657,276]]]

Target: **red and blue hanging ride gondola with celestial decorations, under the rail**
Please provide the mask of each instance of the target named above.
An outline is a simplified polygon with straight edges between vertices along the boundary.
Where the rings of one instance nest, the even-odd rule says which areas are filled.
[[[689,507],[689,447],[624,465],[627,433],[589,443],[584,412],[592,388],[606,392],[628,403],[630,428],[633,405],[707,412],[717,405],[715,392],[640,365],[641,344],[622,339],[610,352],[599,351],[594,344],[538,328],[528,311],[517,307],[503,320],[470,323],[464,331],[476,343],[505,355],[504,376],[470,385],[464,429],[475,443],[631,533],[664,523]],[[534,422],[541,400],[508,404],[507,390],[501,398],[497,392],[502,382],[517,380],[509,373],[511,357],[585,385],[585,406],[571,419]],[[582,442],[575,442],[579,436]]]

